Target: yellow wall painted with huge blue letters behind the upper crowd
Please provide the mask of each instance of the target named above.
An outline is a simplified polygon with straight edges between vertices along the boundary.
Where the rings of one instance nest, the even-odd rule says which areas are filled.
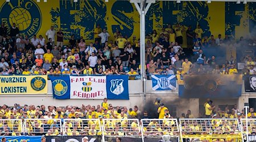
[[[139,14],[129,1],[12,0],[10,3],[0,1],[0,6],[1,23],[11,27],[16,20],[20,34],[29,37],[35,34],[45,37],[53,25],[56,30],[63,29],[66,43],[72,34],[76,39],[83,36],[88,43],[94,39],[97,24],[108,30],[110,39],[116,29],[127,37],[139,37]],[[255,8],[256,3],[157,1],[147,12],[146,34],[153,29],[159,33],[168,24],[192,25],[193,29],[200,24],[204,35],[228,34],[239,39],[253,31]]]

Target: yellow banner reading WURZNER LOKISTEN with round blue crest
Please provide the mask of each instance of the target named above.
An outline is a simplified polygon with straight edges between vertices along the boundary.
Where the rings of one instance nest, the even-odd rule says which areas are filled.
[[[47,76],[0,76],[0,94],[47,94]]]

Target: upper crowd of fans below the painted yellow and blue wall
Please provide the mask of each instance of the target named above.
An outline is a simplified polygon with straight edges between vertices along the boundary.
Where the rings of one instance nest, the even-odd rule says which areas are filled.
[[[83,37],[63,44],[64,32],[51,27],[46,35],[19,36],[18,27],[13,24],[10,31],[2,23],[0,27],[0,73],[7,74],[140,74],[140,40],[129,39],[117,30],[111,37],[106,29],[98,25],[94,30],[94,43],[85,43]],[[255,47],[255,40],[235,41],[228,35],[217,39],[203,36],[200,25],[176,24],[163,28],[159,34],[154,30],[146,35],[147,74],[237,74],[237,61],[233,57],[225,64],[218,65],[214,55],[206,57],[204,49],[225,47],[233,43]],[[56,37],[56,40],[55,40]],[[109,39],[114,40],[109,40]],[[187,40],[187,47],[182,47]],[[191,52],[191,54],[190,54]],[[256,74],[255,59],[246,56],[245,74]]]

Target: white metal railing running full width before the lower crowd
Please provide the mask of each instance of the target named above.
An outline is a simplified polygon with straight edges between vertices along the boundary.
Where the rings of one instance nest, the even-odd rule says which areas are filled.
[[[143,142],[168,135],[171,141],[239,142],[244,141],[246,128],[249,141],[255,141],[256,119],[248,119],[247,125],[246,119],[0,119],[1,136],[46,135],[56,141],[88,136],[94,141],[122,137]]]

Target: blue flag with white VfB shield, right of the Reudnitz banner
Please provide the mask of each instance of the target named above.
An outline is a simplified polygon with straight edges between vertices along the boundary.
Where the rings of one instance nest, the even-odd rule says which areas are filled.
[[[109,75],[106,77],[108,99],[129,99],[127,75]]]

